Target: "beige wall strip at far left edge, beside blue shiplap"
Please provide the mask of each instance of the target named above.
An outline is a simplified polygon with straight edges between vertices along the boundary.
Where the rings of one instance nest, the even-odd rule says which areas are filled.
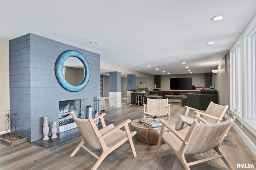
[[[0,133],[6,131],[6,110],[10,110],[9,89],[9,41],[0,39],[1,67],[0,67]]]

